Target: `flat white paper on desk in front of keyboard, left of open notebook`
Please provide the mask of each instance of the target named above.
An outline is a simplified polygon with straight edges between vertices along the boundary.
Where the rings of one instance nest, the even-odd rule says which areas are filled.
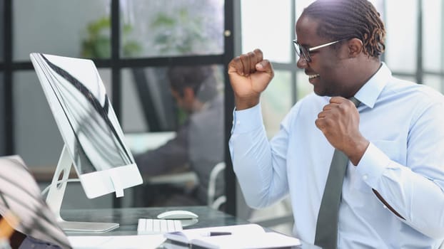
[[[122,236],[68,236],[69,243],[74,249],[89,248],[128,248],[128,249],[155,249],[166,238],[162,234],[156,235],[122,235]]]

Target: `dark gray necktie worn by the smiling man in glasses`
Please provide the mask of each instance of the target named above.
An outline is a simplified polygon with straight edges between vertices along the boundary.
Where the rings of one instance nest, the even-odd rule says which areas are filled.
[[[360,104],[355,97],[351,97],[350,100],[356,107]],[[321,248],[330,249],[338,246],[339,203],[347,164],[348,157],[335,149],[316,223],[315,245]]]

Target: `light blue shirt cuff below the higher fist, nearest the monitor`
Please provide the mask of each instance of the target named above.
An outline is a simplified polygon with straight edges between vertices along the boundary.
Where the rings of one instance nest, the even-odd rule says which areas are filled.
[[[231,134],[251,132],[262,126],[261,103],[245,110],[233,110],[233,129]]]

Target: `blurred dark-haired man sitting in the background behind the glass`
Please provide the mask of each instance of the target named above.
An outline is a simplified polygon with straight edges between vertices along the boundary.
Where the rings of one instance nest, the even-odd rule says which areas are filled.
[[[223,161],[223,95],[211,66],[177,66],[169,68],[167,75],[171,93],[188,118],[174,139],[136,155],[136,164],[143,174],[152,176],[188,165],[196,172],[199,183],[191,193],[171,186],[149,186],[148,205],[206,205],[211,170]],[[218,179],[216,197],[222,193],[223,179]]]

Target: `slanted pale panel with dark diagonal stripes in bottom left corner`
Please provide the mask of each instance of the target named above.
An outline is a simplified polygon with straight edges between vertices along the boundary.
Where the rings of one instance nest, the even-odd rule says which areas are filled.
[[[12,211],[19,218],[16,231],[60,248],[71,248],[23,160],[18,156],[0,157],[0,167],[1,215]]]

